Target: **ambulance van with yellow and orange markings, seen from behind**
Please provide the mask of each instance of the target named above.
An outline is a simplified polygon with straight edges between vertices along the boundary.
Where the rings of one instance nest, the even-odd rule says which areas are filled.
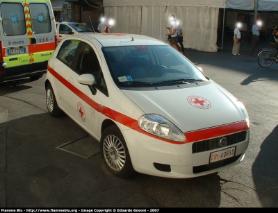
[[[0,83],[38,80],[57,46],[50,0],[0,1]]]

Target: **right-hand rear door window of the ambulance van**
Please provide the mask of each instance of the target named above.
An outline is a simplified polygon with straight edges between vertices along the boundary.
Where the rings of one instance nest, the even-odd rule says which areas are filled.
[[[46,3],[30,3],[30,14],[33,33],[51,32],[49,10]]]

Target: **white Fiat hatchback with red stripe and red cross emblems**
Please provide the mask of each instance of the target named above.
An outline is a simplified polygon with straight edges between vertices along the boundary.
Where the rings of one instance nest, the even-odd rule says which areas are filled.
[[[49,114],[100,144],[111,173],[194,178],[243,161],[243,103],[165,42],[144,35],[66,37],[49,60]]]

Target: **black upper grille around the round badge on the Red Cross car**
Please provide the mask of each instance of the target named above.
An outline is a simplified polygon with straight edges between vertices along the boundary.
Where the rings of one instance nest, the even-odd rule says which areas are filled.
[[[230,146],[232,144],[237,144],[239,142],[243,142],[246,139],[247,131],[243,131],[240,133],[234,133],[231,135],[225,135],[221,137],[215,137],[212,139],[206,139],[201,142],[195,142],[192,146],[192,153],[202,153],[204,151],[210,151],[216,148],[222,148],[219,142],[222,137],[227,138],[226,146]]]

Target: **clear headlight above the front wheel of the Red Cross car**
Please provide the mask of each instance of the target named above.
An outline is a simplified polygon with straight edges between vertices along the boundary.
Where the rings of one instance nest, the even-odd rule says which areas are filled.
[[[186,137],[174,124],[158,114],[144,114],[138,120],[140,128],[147,133],[170,139],[176,142],[184,142]]]

